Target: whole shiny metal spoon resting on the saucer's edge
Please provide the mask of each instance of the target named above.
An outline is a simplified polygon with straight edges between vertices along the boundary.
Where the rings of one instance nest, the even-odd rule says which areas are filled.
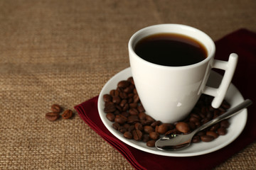
[[[187,135],[170,134],[170,135],[161,137],[159,140],[156,141],[155,146],[157,149],[168,150],[168,151],[184,149],[191,145],[191,140],[197,132],[205,128],[208,128],[209,126],[214,125],[215,123],[218,123],[221,120],[230,118],[231,116],[237,114],[238,111],[242,110],[242,108],[247,108],[247,106],[250,106],[251,104],[252,104],[252,101],[250,99],[246,99],[245,101],[240,103],[238,106],[235,106],[234,108],[230,108],[226,113],[223,113],[217,118],[210,120],[208,123],[201,125],[201,127],[197,128],[196,130],[193,130],[193,132]]]

